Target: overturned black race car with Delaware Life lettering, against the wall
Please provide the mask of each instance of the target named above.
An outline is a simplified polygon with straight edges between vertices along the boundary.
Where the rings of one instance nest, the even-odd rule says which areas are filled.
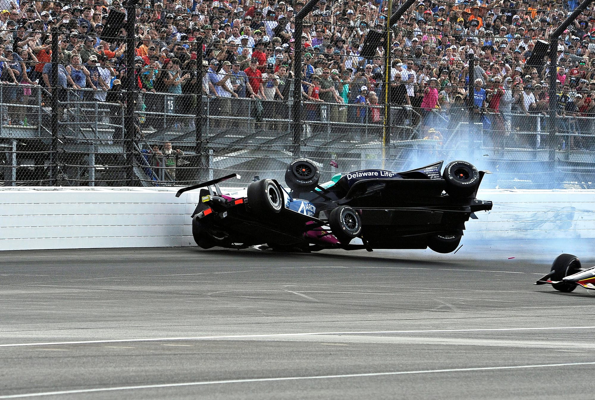
[[[443,161],[395,173],[360,170],[319,183],[318,165],[306,158],[287,165],[286,190],[275,179],[258,179],[247,189],[221,191],[230,174],[180,189],[201,189],[192,214],[196,244],[278,251],[327,248],[425,249],[449,253],[461,242],[465,222],[491,201],[475,198],[486,171],[466,161]]]

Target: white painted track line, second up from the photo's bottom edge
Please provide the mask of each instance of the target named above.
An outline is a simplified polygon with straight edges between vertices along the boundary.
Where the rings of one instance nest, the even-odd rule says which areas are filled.
[[[8,343],[0,347],[22,346],[52,346],[52,345],[86,345],[93,343],[130,343],[130,342],[171,342],[174,340],[209,340],[209,339],[250,339],[258,337],[292,337],[316,335],[378,335],[381,333],[437,333],[437,332],[507,332],[523,330],[572,330],[595,329],[595,326],[560,326],[533,328],[493,328],[493,329],[425,329],[425,330],[372,330],[359,332],[303,332],[303,333],[261,333],[255,335],[220,335],[220,336],[189,336],[189,337],[154,337],[152,339],[108,339],[108,340],[79,340],[76,342],[45,342],[45,343]]]

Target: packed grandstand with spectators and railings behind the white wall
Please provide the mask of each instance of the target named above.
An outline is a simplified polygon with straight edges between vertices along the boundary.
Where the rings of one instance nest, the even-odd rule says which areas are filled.
[[[246,183],[299,145],[328,177],[464,158],[486,187],[594,187],[595,8],[558,40],[555,113],[543,45],[576,1],[427,0],[389,21],[396,0],[319,0],[302,32],[302,1],[0,4],[0,185]]]

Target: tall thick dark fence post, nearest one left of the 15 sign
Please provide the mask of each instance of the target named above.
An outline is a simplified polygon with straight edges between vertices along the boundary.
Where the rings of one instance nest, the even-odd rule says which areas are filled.
[[[124,116],[124,146],[126,152],[126,182],[134,185],[134,22],[136,20],[136,0],[126,4],[126,114]]]

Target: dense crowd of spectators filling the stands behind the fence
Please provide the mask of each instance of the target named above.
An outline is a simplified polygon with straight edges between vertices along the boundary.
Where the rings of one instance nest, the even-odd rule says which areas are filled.
[[[535,130],[537,124],[547,129],[551,71],[526,62],[536,40],[547,39],[577,7],[576,0],[419,1],[390,21],[389,49],[379,46],[374,57],[361,57],[370,30],[386,29],[400,2],[393,1],[393,10],[387,4],[320,0],[302,32],[295,32],[302,0],[142,0],[134,15],[134,82],[143,93],[137,107],[193,115],[202,85],[212,99],[211,115],[220,117],[219,129],[230,127],[226,116],[237,115],[247,99],[258,104],[252,117],[286,118],[294,49],[302,43],[299,68],[308,120],[382,123],[378,104],[383,104],[389,58],[390,102],[403,106],[393,123],[405,126],[421,115],[422,128],[452,129],[471,114],[502,136]],[[122,90],[114,83],[124,82],[130,71],[124,61],[126,30],[123,24],[114,36],[102,36],[111,10],[126,12],[120,0],[0,0],[0,74],[14,84],[7,85],[11,89],[4,90],[3,101],[15,105],[4,113],[4,123],[26,124],[26,112],[17,106],[30,101],[31,87],[51,92],[53,27],[60,31],[59,85],[85,101],[121,101],[110,92]],[[593,132],[591,119],[583,118],[595,107],[593,10],[584,11],[558,43],[558,127],[568,133],[563,146],[569,148],[590,145],[572,133]],[[201,66],[198,52],[205,60]],[[476,59],[471,85],[468,54]],[[204,71],[202,83],[198,67]],[[174,101],[164,101],[167,95]],[[147,117],[146,123],[158,120]],[[192,124],[193,118],[170,121]]]

